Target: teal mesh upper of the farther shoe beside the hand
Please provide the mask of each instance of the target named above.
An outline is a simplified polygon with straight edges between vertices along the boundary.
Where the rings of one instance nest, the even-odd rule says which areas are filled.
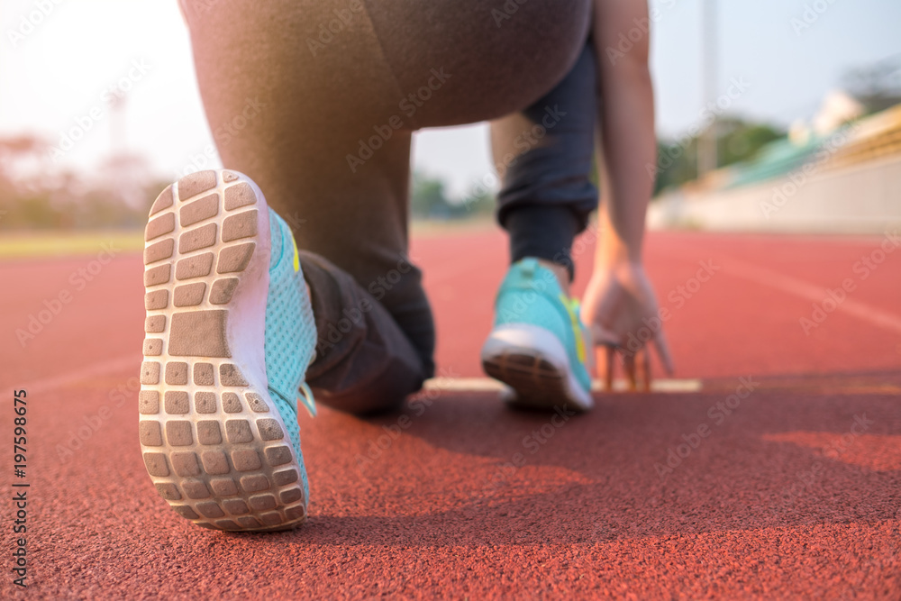
[[[512,323],[537,325],[553,333],[567,351],[569,366],[579,383],[586,390],[591,388],[591,377],[586,364],[579,360],[576,333],[573,331],[573,314],[564,303],[566,295],[557,276],[542,267],[535,259],[523,259],[510,267],[495,303],[495,327]],[[582,323],[575,311],[575,319]],[[590,352],[591,349],[586,349]]]

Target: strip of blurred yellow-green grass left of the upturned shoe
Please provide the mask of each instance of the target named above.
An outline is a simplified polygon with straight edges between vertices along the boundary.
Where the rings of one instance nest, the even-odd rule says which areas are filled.
[[[144,248],[144,236],[140,230],[4,232],[0,233],[0,260],[92,255],[104,250],[103,244],[121,252],[139,251]]]

